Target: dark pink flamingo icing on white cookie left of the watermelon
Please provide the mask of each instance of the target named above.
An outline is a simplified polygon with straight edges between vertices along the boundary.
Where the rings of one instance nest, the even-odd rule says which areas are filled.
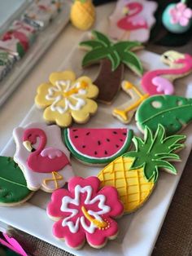
[[[37,143],[37,138],[40,139],[39,145],[34,152],[31,152],[27,160],[28,167],[31,170],[35,172],[48,173],[61,170],[69,164],[68,157],[56,148],[51,148],[52,156],[54,151],[59,152],[59,156],[56,154],[54,158],[42,156],[43,154],[45,155],[45,149],[47,149],[46,152],[50,151],[50,148],[45,148],[46,133],[43,130],[37,128],[24,130],[23,141],[28,140],[33,145]]]

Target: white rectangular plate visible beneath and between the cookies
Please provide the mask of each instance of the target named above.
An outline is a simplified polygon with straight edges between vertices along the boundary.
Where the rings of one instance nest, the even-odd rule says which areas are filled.
[[[85,54],[84,51],[75,49],[69,56],[68,60],[65,60],[64,64],[60,67],[60,70],[66,68],[72,68],[77,75],[81,75],[83,72],[85,75],[89,75],[94,79],[96,73],[98,73],[98,66],[93,68],[87,68],[84,71],[81,68],[81,59]],[[165,68],[164,64],[160,63],[159,55],[155,55],[149,51],[141,51],[139,57],[144,64],[145,69],[151,68]],[[75,57],[74,57],[75,56]],[[153,66],[151,65],[153,64]],[[126,68],[125,77],[129,77],[129,81],[134,84],[138,84],[139,80],[129,72]],[[190,84],[191,77],[181,79],[176,82],[177,95],[185,95],[192,97],[192,84]],[[129,126],[125,126],[120,123],[116,118],[111,116],[111,111],[114,107],[122,104],[125,100],[129,100],[129,96],[120,91],[116,100],[110,106],[99,104],[98,113],[91,117],[90,121],[85,127],[129,127],[132,128],[135,134],[142,136],[137,130],[135,121],[133,120]],[[21,126],[28,124],[31,121],[43,121],[42,112],[33,106],[28,116],[25,117]],[[129,256],[145,256],[150,255],[155,245],[159,230],[164,222],[168,206],[172,201],[172,196],[177,188],[177,183],[181,178],[182,171],[185,167],[185,162],[190,154],[192,134],[190,134],[190,128],[188,127],[183,131],[183,134],[187,135],[186,148],[180,153],[181,162],[175,164],[178,170],[177,175],[166,174],[161,172],[159,174],[159,180],[155,191],[151,195],[150,199],[134,214],[125,215],[118,220],[120,225],[120,233],[115,241],[109,241],[107,246],[103,249],[93,249],[89,245],[85,245],[82,249],[76,251],[68,248],[63,241],[58,241],[51,233],[53,221],[46,215],[46,205],[50,201],[50,194],[46,192],[36,192],[33,198],[17,207],[0,208],[0,221],[10,224],[24,232],[28,232],[33,236],[37,236],[43,241],[55,245],[61,249],[64,249],[72,254],[88,256],[88,255],[129,255]],[[15,143],[13,139],[7,144],[2,152],[2,155],[12,157],[15,152]],[[89,175],[96,175],[100,168],[84,166],[81,163],[72,159],[72,167],[75,170],[76,175],[83,177]]]

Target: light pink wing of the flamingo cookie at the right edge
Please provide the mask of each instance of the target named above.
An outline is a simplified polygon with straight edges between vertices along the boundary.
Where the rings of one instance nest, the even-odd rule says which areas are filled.
[[[157,86],[157,92],[164,95],[173,95],[174,87],[172,82],[164,77],[154,77],[152,83]]]

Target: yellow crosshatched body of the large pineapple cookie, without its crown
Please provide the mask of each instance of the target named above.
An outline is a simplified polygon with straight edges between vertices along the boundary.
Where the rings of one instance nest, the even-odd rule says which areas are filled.
[[[130,170],[132,163],[131,157],[118,157],[98,174],[102,187],[113,186],[117,189],[120,201],[124,204],[124,214],[141,207],[155,185],[146,180],[142,168]]]

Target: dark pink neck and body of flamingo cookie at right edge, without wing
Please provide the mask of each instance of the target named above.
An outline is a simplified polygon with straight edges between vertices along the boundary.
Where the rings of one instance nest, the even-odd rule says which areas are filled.
[[[157,69],[153,71],[146,72],[142,77],[142,88],[149,95],[160,95],[162,91],[158,91],[158,87],[154,85],[153,79],[155,77],[160,77],[163,75],[172,75],[172,77],[179,77],[182,74],[185,75],[192,70],[192,56],[185,55],[185,59],[180,59],[176,61],[176,64],[183,64],[182,68],[168,68],[168,69]],[[163,80],[162,80],[163,81]],[[165,85],[163,85],[164,87]]]

